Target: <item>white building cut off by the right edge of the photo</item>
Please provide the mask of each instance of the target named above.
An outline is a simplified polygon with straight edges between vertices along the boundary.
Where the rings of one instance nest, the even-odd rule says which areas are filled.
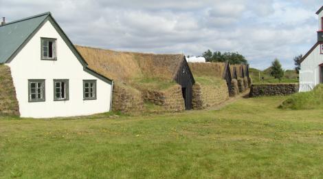
[[[319,19],[318,42],[300,63],[300,92],[307,92],[323,83],[323,6],[316,12]]]

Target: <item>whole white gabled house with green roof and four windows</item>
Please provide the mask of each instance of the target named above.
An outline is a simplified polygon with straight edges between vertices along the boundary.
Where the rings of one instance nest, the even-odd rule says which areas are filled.
[[[50,12],[0,26],[0,63],[10,67],[21,117],[109,112],[113,82],[89,69]]]

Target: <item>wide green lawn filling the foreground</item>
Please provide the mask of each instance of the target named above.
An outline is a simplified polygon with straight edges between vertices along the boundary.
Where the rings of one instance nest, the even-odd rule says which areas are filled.
[[[0,178],[322,178],[323,110],[287,97],[219,111],[0,119]]]

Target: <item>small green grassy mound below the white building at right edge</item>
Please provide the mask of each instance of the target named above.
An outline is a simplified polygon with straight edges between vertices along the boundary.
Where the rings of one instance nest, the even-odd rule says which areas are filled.
[[[280,105],[282,109],[322,109],[323,85],[316,86],[311,92],[293,94]]]

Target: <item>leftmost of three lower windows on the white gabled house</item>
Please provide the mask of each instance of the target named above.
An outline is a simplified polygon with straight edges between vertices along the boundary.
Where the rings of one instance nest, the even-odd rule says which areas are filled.
[[[28,101],[45,101],[45,80],[28,80]]]

